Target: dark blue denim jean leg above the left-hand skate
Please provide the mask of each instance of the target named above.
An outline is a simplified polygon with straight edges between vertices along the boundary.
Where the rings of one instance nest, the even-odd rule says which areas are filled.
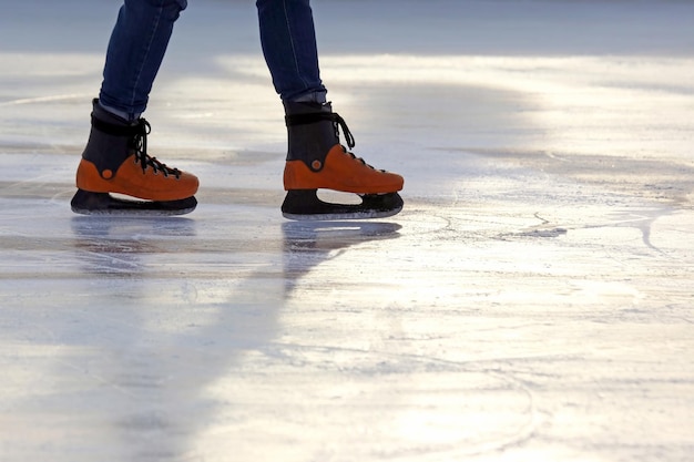
[[[127,119],[147,105],[173,24],[187,0],[125,0],[111,34],[99,99]]]

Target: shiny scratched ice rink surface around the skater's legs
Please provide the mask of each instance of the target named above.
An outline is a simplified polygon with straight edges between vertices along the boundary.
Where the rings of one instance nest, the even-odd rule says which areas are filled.
[[[177,218],[70,212],[119,2],[0,1],[0,461],[691,461],[694,2],[315,1],[400,215],[282,217],[252,1],[145,116]]]

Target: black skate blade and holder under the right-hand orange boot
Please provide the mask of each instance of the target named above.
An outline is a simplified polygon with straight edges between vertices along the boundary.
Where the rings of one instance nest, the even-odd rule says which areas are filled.
[[[293,189],[282,204],[282,215],[296,220],[370,219],[397,215],[402,209],[398,193],[359,195],[360,204],[320,201],[316,189]]]

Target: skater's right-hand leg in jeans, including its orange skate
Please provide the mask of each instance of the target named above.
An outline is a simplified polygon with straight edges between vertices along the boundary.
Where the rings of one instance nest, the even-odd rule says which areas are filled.
[[[287,162],[284,215],[297,219],[372,218],[402,207],[397,194],[402,177],[376,170],[347,152],[354,137],[343,117],[326,102],[309,0],[257,0],[261,41],[275,90],[280,95],[287,124]],[[317,189],[363,196],[360,205],[329,204]]]

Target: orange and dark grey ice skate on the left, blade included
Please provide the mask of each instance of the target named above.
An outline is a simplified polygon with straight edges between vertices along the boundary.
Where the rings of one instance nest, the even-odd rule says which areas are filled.
[[[79,214],[181,215],[197,202],[197,177],[147,154],[150,124],[111,114],[94,100],[92,130],[78,167],[72,211]],[[118,193],[143,201],[116,198]]]

